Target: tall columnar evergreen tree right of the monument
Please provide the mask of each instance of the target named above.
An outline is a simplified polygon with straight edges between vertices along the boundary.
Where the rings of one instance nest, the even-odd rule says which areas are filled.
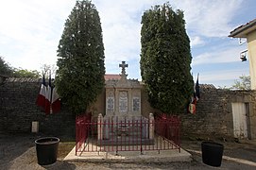
[[[165,113],[184,110],[193,93],[190,40],[181,10],[163,4],[146,10],[141,29],[141,75],[149,103]]]

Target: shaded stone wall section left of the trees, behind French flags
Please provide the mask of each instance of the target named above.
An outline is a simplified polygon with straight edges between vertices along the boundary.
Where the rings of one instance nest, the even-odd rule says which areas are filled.
[[[9,78],[0,85],[0,132],[31,132],[32,121],[38,121],[43,134],[75,136],[75,116],[65,106],[45,115],[36,105],[40,87],[33,78]]]

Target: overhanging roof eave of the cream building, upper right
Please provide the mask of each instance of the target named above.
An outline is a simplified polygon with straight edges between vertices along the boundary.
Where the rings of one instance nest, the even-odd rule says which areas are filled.
[[[256,19],[248,22],[245,25],[238,26],[230,32],[229,37],[233,38],[247,38],[247,34],[253,30],[256,30]]]

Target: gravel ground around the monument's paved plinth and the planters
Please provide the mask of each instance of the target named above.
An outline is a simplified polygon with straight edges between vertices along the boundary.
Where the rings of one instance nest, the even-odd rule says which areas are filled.
[[[191,162],[158,162],[158,163],[110,163],[110,162],[74,162],[58,161],[51,165],[41,166],[37,163],[34,141],[39,136],[0,134],[0,169],[256,169],[256,141],[241,143],[226,142],[224,156],[240,159],[240,161],[222,160],[221,167],[204,164],[201,159],[200,141],[182,141],[182,148],[192,154]],[[220,142],[221,143],[221,142]]]

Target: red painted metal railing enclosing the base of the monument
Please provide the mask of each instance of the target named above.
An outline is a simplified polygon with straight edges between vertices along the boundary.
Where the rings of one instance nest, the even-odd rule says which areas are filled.
[[[77,152],[118,152],[179,149],[178,116],[108,118],[98,122],[77,117]],[[91,117],[90,117],[91,120]]]

